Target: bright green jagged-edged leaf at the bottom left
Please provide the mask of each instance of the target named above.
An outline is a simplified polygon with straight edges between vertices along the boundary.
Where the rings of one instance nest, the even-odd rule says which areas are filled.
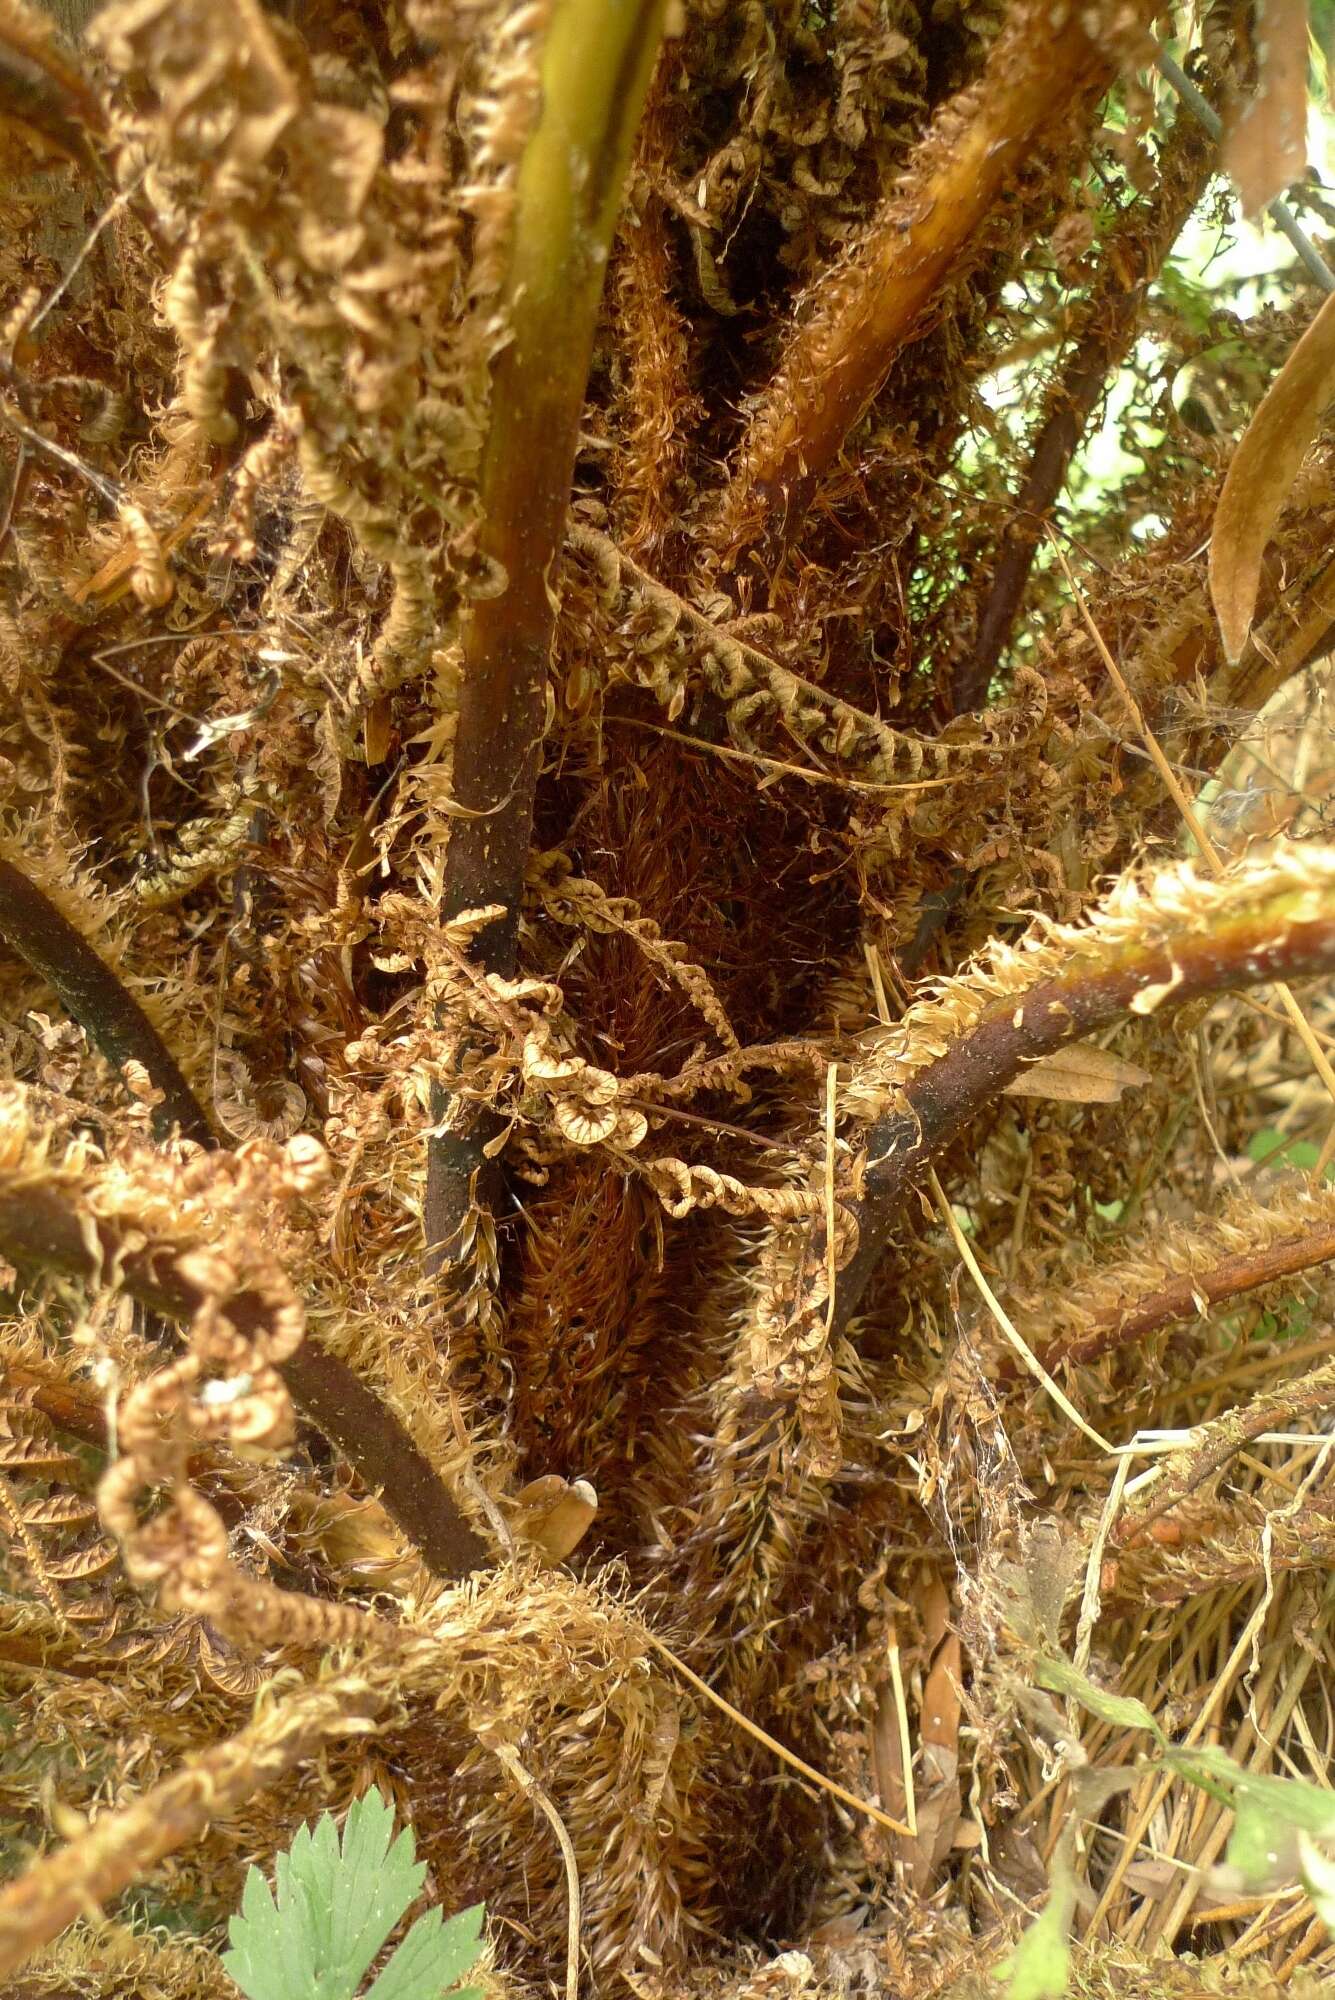
[[[354,2000],[372,1960],[420,1896],[426,1866],[410,1828],[376,1790],[348,1812],[342,1844],[326,1812],[274,1862],[274,1890],[246,1876],[228,1924],[224,1966],[248,2000]],[[440,1910],[412,1926],[376,1980],[376,2000],[436,2000],[480,1952],[482,1904],[442,1928]]]

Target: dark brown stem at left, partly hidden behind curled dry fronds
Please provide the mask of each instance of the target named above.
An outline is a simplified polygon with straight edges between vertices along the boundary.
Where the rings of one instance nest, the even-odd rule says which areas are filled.
[[[114,1274],[132,1298],[170,1320],[190,1320],[200,1290],[180,1274],[180,1244],[138,1244],[106,1216],[94,1218],[54,1184],[0,1192],[0,1254],[20,1270],[56,1270],[98,1284]],[[228,1300],[238,1332],[266,1314],[258,1294]],[[296,1404],[336,1444],[438,1576],[466,1576],[488,1562],[430,1460],[346,1362],[308,1334],[280,1374]]]

